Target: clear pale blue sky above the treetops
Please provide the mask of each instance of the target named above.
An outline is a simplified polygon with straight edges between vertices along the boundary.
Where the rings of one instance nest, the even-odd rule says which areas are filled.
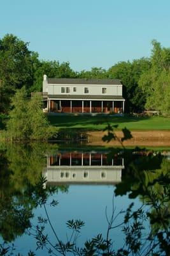
[[[0,10],[0,38],[77,71],[148,57],[152,39],[169,47],[169,0],[0,0]]]

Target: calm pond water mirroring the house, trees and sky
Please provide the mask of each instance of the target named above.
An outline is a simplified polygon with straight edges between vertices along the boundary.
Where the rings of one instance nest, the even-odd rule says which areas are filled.
[[[10,245],[6,255],[12,243],[14,255],[27,255],[29,250],[36,255],[64,255],[63,244],[55,247],[59,240],[65,246],[67,241],[74,243],[65,255],[102,255],[101,249],[105,255],[168,255],[167,155],[69,145],[1,147],[0,243],[6,241],[4,248]],[[69,223],[72,228],[67,227],[68,220],[74,220]],[[81,229],[76,220],[83,221]],[[98,237],[94,243],[97,234],[103,240]],[[90,245],[85,247],[87,240],[93,241],[96,254]],[[89,252],[75,252],[75,246]]]

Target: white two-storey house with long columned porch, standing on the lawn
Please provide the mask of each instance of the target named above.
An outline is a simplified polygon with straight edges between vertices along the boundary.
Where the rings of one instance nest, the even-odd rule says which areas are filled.
[[[118,79],[68,79],[43,76],[48,112],[124,113],[125,99]]]

